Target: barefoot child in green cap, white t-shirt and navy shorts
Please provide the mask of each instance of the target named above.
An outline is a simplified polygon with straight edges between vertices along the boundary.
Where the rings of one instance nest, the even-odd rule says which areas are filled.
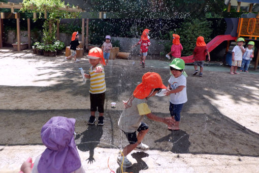
[[[165,93],[166,96],[170,95],[169,110],[172,119],[175,120],[175,126],[168,126],[170,130],[179,130],[180,124],[180,112],[183,104],[187,102],[186,94],[186,77],[187,74],[183,71],[184,61],[176,58],[170,64],[171,77],[168,80],[168,91]]]

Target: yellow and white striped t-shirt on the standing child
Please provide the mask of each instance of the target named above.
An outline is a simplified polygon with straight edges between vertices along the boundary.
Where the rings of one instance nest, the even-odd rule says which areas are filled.
[[[96,70],[96,67],[101,66],[103,71],[101,73],[95,73],[93,71]],[[104,67],[102,64],[98,64],[95,68],[92,66],[89,69],[90,73],[90,90],[89,93],[91,94],[99,94],[104,93],[106,91],[106,84],[105,84],[105,73]]]

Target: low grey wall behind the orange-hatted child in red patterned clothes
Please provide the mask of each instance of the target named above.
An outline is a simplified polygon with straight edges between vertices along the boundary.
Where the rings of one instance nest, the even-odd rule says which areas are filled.
[[[120,51],[131,52],[133,54],[138,54],[140,51],[140,45],[135,48],[131,48],[134,44],[138,43],[140,38],[124,38],[124,37],[112,37],[112,42],[115,40],[120,41]],[[171,42],[170,40],[154,40],[150,39],[151,45],[148,47],[148,54],[160,54],[164,51],[164,44],[166,42]]]

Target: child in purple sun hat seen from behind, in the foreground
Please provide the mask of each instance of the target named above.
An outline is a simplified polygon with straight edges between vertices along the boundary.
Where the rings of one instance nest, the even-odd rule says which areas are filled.
[[[85,173],[74,139],[75,123],[75,119],[52,117],[41,129],[47,149],[36,158],[32,169],[30,158],[30,162],[22,164],[20,172]]]

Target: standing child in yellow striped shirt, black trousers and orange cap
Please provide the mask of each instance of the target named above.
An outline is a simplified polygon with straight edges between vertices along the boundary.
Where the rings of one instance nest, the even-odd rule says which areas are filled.
[[[89,118],[88,124],[93,125],[96,121],[95,111],[98,108],[99,118],[98,125],[104,125],[104,100],[105,100],[105,60],[104,53],[102,49],[94,47],[89,50],[87,57],[89,58],[89,63],[91,64],[89,69],[89,74],[84,74],[84,76],[90,79],[90,110],[91,116]]]

